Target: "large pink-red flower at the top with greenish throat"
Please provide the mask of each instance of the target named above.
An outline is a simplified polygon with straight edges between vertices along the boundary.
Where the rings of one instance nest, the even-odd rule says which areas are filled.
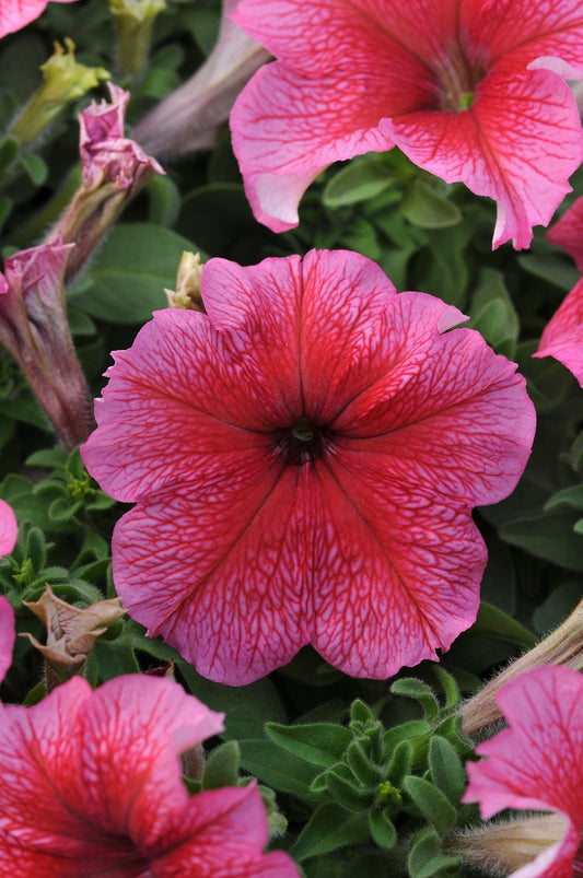
[[[493,246],[527,247],[583,157],[579,0],[243,0],[276,56],[231,115],[256,218],[282,232],[331,162],[399,147],[498,203]]]

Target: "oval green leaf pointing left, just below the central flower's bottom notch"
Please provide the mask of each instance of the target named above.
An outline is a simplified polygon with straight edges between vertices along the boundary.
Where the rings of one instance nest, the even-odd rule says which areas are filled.
[[[288,752],[325,769],[338,762],[352,741],[350,729],[334,723],[302,726],[267,723],[265,734]]]

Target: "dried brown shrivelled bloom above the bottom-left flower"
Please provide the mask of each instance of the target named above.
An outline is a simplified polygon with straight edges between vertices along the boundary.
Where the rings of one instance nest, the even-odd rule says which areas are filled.
[[[28,632],[28,637],[50,667],[61,677],[70,677],[81,670],[88,653],[91,653],[96,639],[107,631],[107,627],[126,612],[119,598],[100,600],[84,609],[73,607],[61,600],[50,585],[37,601],[23,601],[47,629],[46,645],[38,643]]]

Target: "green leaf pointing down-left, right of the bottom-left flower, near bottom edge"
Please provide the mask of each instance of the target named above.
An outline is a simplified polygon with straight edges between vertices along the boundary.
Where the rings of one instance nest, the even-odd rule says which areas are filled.
[[[299,863],[313,856],[322,856],[359,844],[369,838],[366,815],[347,812],[340,805],[322,805],[310,818],[300,836],[290,848],[290,855]]]

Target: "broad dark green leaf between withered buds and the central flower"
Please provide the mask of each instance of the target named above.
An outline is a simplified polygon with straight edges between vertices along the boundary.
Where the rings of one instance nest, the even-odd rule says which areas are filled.
[[[97,254],[88,277],[93,281],[71,302],[92,317],[116,324],[143,324],[167,306],[164,288],[176,286],[176,272],[191,242],[149,223],[117,225]]]

